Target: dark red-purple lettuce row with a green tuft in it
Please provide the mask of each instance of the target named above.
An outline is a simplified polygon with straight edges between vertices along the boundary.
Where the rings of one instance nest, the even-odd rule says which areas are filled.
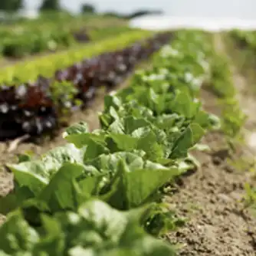
[[[169,41],[171,34],[156,34],[122,50],[107,52],[38,77],[34,83],[0,87],[0,138],[51,133],[64,115],[86,107],[97,89],[114,87],[139,61]]]

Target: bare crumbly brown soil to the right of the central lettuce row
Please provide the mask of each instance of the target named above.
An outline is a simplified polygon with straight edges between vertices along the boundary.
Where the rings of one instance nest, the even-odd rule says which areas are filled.
[[[225,53],[222,38],[218,36],[216,49]],[[247,87],[245,78],[238,74],[235,67],[231,67],[231,71],[238,100],[249,117],[243,131],[247,138],[256,128],[256,106],[254,99],[243,93]],[[207,90],[202,90],[202,100],[206,110],[220,113],[215,96]],[[251,178],[250,172],[246,172],[246,168],[241,172],[231,164],[231,159],[235,161],[248,157],[248,152],[252,156],[255,149],[251,144],[243,145],[236,153],[229,155],[222,133],[209,133],[202,143],[207,143],[212,152],[195,153],[201,168],[182,178],[177,192],[166,198],[177,209],[179,216],[189,220],[183,228],[166,238],[181,246],[179,255],[255,256],[256,216],[245,208],[243,196],[245,183],[256,186],[256,181]]]

